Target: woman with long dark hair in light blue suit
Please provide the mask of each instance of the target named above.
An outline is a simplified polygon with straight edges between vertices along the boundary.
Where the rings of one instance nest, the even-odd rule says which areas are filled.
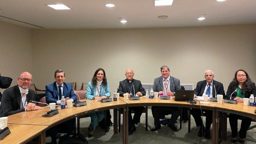
[[[106,79],[106,74],[104,69],[99,68],[95,71],[91,82],[89,82],[87,85],[85,96],[86,96],[86,99],[91,99],[91,100],[94,100],[94,99],[101,100],[111,96],[109,84]],[[100,111],[100,112],[90,113],[89,116],[91,117],[91,124],[88,127],[88,130],[89,130],[89,133],[87,135],[88,138],[93,136],[97,124],[104,118],[104,112]]]

